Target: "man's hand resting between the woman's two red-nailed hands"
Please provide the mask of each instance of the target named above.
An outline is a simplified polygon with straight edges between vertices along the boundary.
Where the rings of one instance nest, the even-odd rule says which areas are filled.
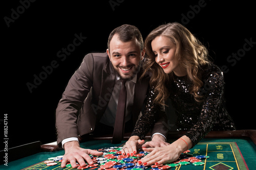
[[[151,141],[148,141],[142,145],[142,148],[166,147],[169,144],[170,143],[165,142],[165,138],[162,135],[155,134]]]

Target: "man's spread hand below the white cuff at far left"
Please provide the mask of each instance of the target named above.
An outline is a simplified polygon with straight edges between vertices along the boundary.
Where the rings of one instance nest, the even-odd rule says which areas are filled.
[[[90,154],[100,156],[103,155],[102,152],[93,151],[90,149],[82,149],[80,148],[80,145],[78,141],[70,141],[64,144],[65,148],[65,155],[62,158],[61,167],[66,167],[66,164],[70,162],[71,166],[73,168],[77,167],[76,162],[80,164],[80,166],[86,166],[87,161],[88,164],[92,165],[93,161]]]

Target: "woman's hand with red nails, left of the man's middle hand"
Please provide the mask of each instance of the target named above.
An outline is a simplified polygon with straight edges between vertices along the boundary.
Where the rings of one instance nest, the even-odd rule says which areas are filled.
[[[145,141],[140,140],[138,136],[131,136],[123,146],[122,155],[134,156],[144,143]]]

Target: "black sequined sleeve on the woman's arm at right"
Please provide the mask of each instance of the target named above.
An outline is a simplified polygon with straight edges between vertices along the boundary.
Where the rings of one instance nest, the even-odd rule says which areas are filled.
[[[200,90],[203,95],[203,107],[198,121],[185,135],[193,142],[193,147],[212,129],[223,98],[223,74],[221,71],[211,72],[203,78],[204,85]]]

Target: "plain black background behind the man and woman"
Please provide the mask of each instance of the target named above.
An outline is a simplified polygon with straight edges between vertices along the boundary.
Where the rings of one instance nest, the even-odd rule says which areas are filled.
[[[28,0],[5,1],[1,5],[0,136],[4,138],[3,119],[8,114],[9,148],[37,140],[56,140],[55,109],[69,79],[84,55],[105,52],[110,32],[124,23],[138,27],[143,38],[164,23],[182,23],[206,45],[215,64],[228,67],[224,74],[226,106],[237,128],[256,129],[256,44],[235,64],[227,61],[232,53],[243,52],[245,39],[256,41],[251,1],[205,0],[200,10],[196,5],[202,1],[35,1],[27,3],[26,8],[20,7],[21,2]],[[111,6],[110,2],[118,5]],[[5,19],[12,18],[13,11],[19,11],[19,15],[8,27]],[[182,14],[189,21],[182,20]],[[58,58],[57,53],[73,43],[75,34],[87,38],[66,59]],[[33,84],[34,75],[39,76],[44,71],[42,67],[54,60],[58,67],[30,92],[27,83]]]

